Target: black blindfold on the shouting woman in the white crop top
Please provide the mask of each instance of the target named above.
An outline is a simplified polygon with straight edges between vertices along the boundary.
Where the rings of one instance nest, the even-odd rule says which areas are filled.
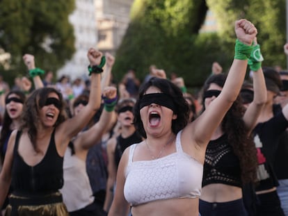
[[[141,99],[139,99],[139,106],[142,109],[144,106],[149,106],[151,103],[156,103],[159,106],[165,106],[175,113],[176,107],[173,99],[168,94],[164,93],[152,93],[144,94]]]

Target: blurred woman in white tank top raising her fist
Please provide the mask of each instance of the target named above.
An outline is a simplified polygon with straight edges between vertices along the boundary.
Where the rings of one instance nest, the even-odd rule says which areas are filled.
[[[76,215],[105,215],[103,208],[98,206],[93,197],[88,174],[86,159],[88,151],[95,144],[99,144],[102,135],[106,132],[109,122],[113,118],[113,106],[117,100],[117,91],[114,87],[106,87],[102,93],[104,110],[98,122],[86,128],[75,136],[65,151],[63,162],[64,185],[61,188],[63,202],[69,214]],[[74,100],[74,116],[81,114],[88,101],[81,95]]]

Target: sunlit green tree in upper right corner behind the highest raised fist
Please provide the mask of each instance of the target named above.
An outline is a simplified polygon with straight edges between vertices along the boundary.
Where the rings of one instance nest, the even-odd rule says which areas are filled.
[[[285,3],[285,0],[207,0],[207,5],[216,14],[221,37],[225,37],[227,42],[234,41],[234,33],[231,31],[234,20],[248,19],[258,29],[257,40],[264,56],[262,65],[280,65],[284,68]]]

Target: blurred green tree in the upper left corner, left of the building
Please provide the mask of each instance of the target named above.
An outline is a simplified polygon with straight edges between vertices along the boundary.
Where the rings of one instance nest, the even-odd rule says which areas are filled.
[[[36,64],[56,71],[74,53],[74,31],[68,15],[74,0],[0,1],[0,48],[11,54],[11,72],[25,74],[22,56],[31,53]]]

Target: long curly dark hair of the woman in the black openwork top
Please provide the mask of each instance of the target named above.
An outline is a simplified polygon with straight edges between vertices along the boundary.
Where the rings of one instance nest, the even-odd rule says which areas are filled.
[[[220,87],[223,87],[226,78],[226,74],[210,76],[202,88],[202,98],[211,83],[216,83]],[[205,104],[204,101],[202,102],[204,110]],[[249,134],[248,128],[246,128],[243,122],[244,113],[245,108],[243,107],[241,97],[237,97],[223,118],[221,126],[222,130],[227,134],[228,143],[232,146],[233,152],[239,158],[242,183],[249,183],[256,181],[258,163],[257,150],[253,142],[253,137]]]

